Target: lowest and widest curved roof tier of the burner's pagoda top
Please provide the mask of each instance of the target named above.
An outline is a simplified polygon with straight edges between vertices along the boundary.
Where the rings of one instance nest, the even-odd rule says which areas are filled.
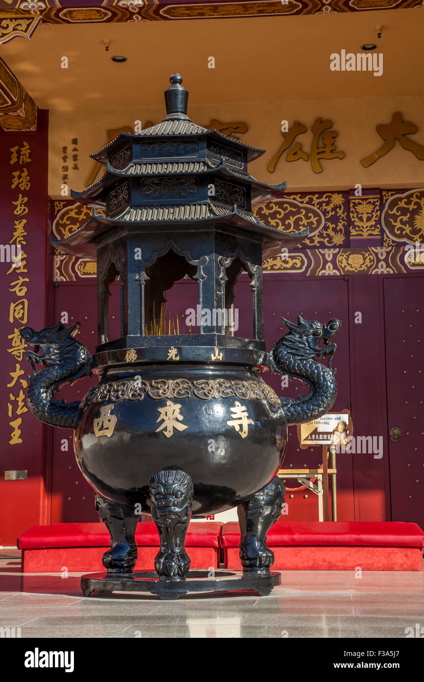
[[[242,211],[235,205],[231,209],[210,202],[178,206],[130,206],[115,218],[105,218],[97,211],[93,211],[93,217],[78,230],[65,239],[52,239],[51,243],[52,246],[59,248],[62,252],[82,258],[95,259],[97,256],[95,241],[112,228],[124,228],[131,233],[142,233],[148,232],[160,224],[162,228],[165,227],[171,233],[174,229],[181,229],[184,226],[187,228],[196,226],[198,229],[205,226],[207,228],[211,223],[214,223],[217,228],[220,223],[227,223],[248,232],[262,234],[263,258],[281,251],[284,246],[288,248],[296,246],[309,233],[308,228],[298,233],[277,230],[263,224],[252,213]]]

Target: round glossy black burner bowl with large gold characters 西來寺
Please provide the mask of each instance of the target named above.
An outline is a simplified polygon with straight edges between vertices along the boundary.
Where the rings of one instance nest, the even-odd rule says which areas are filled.
[[[75,433],[78,465],[95,490],[149,512],[152,475],[182,469],[198,517],[263,488],[286,444],[278,396],[259,370],[240,366],[109,367],[84,398]]]

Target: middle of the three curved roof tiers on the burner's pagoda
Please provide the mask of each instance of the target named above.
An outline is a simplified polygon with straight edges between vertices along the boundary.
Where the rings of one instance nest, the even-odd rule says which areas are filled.
[[[171,162],[147,162],[130,163],[127,168],[118,170],[111,164],[106,164],[105,174],[96,182],[86,187],[82,192],[71,190],[71,196],[82,204],[97,208],[105,207],[103,194],[120,178],[152,177],[160,175],[204,175],[205,173],[219,173],[231,180],[241,180],[248,183],[252,188],[252,207],[260,206],[271,199],[283,198],[286,183],[267,185],[257,180],[248,173],[233,170],[223,158],[221,162],[213,162],[209,159],[196,161],[176,160]]]

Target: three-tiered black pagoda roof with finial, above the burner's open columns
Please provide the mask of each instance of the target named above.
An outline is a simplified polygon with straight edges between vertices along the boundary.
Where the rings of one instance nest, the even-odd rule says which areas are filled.
[[[215,229],[224,223],[240,234],[262,235],[264,257],[304,239],[308,229],[278,230],[255,215],[259,205],[283,198],[286,187],[267,185],[248,173],[249,158],[263,150],[193,123],[180,74],[169,80],[161,123],[120,134],[93,154],[106,166],[105,174],[82,192],[71,191],[94,209],[93,216],[65,239],[52,239],[54,246],[95,258],[98,238],[112,228],[149,235],[158,229],[191,231],[193,224]]]

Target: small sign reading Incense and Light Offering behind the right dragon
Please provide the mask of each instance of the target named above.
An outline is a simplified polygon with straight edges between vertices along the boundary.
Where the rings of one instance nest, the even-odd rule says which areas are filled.
[[[297,426],[297,438],[302,449],[313,445],[346,445],[353,435],[353,424],[348,410],[327,412],[319,419],[312,419]]]

